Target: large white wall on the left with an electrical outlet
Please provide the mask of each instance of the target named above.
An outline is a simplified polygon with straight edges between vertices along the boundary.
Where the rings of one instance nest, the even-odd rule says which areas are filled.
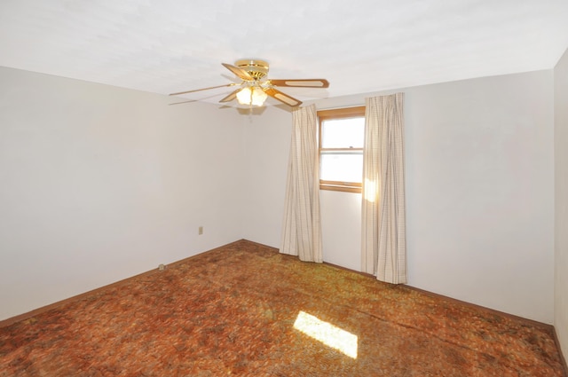
[[[0,82],[0,319],[241,238],[231,109],[2,67]]]

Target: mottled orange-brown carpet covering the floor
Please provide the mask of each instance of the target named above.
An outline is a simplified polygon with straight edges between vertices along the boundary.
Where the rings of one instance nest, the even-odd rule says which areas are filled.
[[[356,336],[356,354],[296,329],[301,312]],[[545,327],[246,240],[0,328],[2,377],[227,375],[550,377],[564,370]]]

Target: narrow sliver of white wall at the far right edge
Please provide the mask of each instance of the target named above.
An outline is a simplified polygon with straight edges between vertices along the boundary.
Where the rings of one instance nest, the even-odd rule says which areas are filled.
[[[568,50],[555,76],[555,310],[554,326],[568,359]]]

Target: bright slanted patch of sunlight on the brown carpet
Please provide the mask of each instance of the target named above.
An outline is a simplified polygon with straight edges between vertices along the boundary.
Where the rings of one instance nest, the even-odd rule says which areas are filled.
[[[355,334],[313,317],[305,311],[298,313],[294,328],[344,355],[357,358],[357,335]]]

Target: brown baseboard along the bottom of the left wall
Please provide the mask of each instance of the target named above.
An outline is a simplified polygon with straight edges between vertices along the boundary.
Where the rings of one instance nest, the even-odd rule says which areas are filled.
[[[192,259],[193,257],[195,257],[197,255],[203,255],[203,254],[206,254],[206,253],[211,253],[213,251],[216,251],[219,248],[228,247],[228,246],[231,246],[233,244],[236,244],[236,243],[239,243],[239,242],[242,242],[242,241],[243,240],[236,240],[236,241],[233,241],[233,242],[228,243],[226,245],[223,245],[223,246],[220,246],[220,247],[215,247],[211,250],[207,250],[207,251],[198,253],[196,255],[188,256],[187,258],[181,259],[179,261],[166,264],[166,265],[164,265],[164,267],[165,268],[173,267],[173,266],[175,266],[179,263],[185,263],[185,262],[189,261],[190,259]],[[120,287],[124,284],[129,283],[133,279],[143,278],[145,276],[149,276],[149,275],[152,275],[152,274],[158,273],[158,272],[160,272],[159,269],[153,269],[153,270],[150,270],[150,271],[142,272],[142,273],[139,273],[138,275],[131,276],[130,278],[122,279],[122,280],[116,281],[114,283],[107,284],[106,286],[103,286],[103,287],[91,289],[90,291],[84,292],[83,294],[74,295],[74,296],[71,296],[71,297],[66,298],[64,300],[61,300],[61,301],[58,301],[58,302],[53,302],[53,303],[50,303],[48,305],[42,306],[41,308],[31,310],[31,311],[28,311],[26,313],[19,314],[17,316],[11,317],[11,318],[6,318],[6,319],[3,319],[3,320],[0,320],[0,327],[10,326],[10,325],[12,325],[16,322],[20,322],[20,321],[23,321],[23,320],[26,320],[26,319],[29,319],[29,318],[36,317],[36,316],[38,316],[38,315],[40,315],[40,314],[42,314],[46,311],[59,308],[59,306],[65,305],[69,302],[75,302],[75,301],[78,301],[78,300],[82,300],[86,296],[97,294],[100,291],[103,291],[103,290],[111,288],[111,287]]]

